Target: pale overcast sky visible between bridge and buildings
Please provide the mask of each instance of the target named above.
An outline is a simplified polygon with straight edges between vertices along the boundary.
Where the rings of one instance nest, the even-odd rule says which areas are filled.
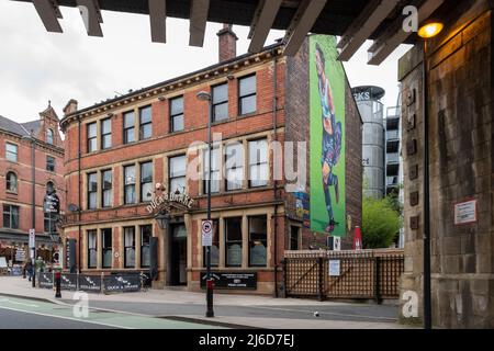
[[[47,33],[30,3],[0,1],[0,115],[26,122],[38,118],[48,100],[63,117],[69,99],[79,107],[141,89],[217,63],[221,24],[207,23],[203,48],[190,47],[189,22],[167,20],[167,44],[150,42],[146,15],[103,12],[103,38],[89,37],[75,8],[61,8],[63,34]],[[234,26],[237,54],[247,52],[248,27]],[[282,37],[272,31],[267,44]],[[379,67],[368,66],[367,43],[345,64],[350,84],[380,86],[385,106],[396,104],[398,48]]]

